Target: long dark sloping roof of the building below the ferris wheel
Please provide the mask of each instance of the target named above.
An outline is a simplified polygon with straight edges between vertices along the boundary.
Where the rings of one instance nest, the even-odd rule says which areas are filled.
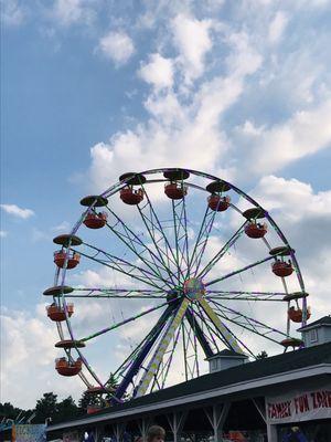
[[[254,362],[248,362],[213,373],[200,376],[199,378],[190,381],[132,399],[129,402],[104,409],[90,417],[86,415],[75,419],[72,424],[78,425],[83,420],[85,424],[89,421],[96,422],[98,418],[103,419],[105,414],[109,415],[109,419],[111,419],[111,414],[114,413],[126,412],[135,408],[141,409],[145,406],[163,403],[178,398],[192,397],[194,394],[201,394],[207,391],[217,390],[220,388],[226,388],[227,386],[231,387],[232,385],[238,385],[241,382],[249,383],[249,386],[247,386],[245,389],[246,391],[249,391],[249,389],[254,388],[252,387],[254,380],[280,376],[281,373],[307,369],[308,367],[314,367],[322,364],[331,365],[331,343],[285,352],[265,359],[259,359]],[[308,371],[309,376],[312,376],[310,375],[311,370]],[[324,371],[325,370],[323,369],[322,372]],[[292,375],[290,378],[292,379]],[[63,424],[65,424],[65,422],[63,422]],[[50,425],[49,431],[52,431],[52,427],[53,425]],[[60,427],[61,424],[54,425],[56,429]]]

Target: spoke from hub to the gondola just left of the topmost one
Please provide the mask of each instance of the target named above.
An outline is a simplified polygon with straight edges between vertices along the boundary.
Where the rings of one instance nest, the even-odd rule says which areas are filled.
[[[158,250],[160,252],[162,252],[164,254],[164,256],[167,257],[168,269],[169,270],[171,269],[170,263],[172,263],[172,265],[174,265],[174,267],[177,269],[175,255],[173,253],[171,244],[164,233],[162,224],[161,224],[161,222],[157,215],[157,212],[151,203],[148,192],[146,191],[146,189],[143,189],[143,191],[145,191],[145,196],[146,196],[146,203],[143,207],[141,207],[141,208],[139,207],[139,212],[143,217],[145,221],[149,224],[150,231],[153,232],[153,238],[156,239],[156,234],[160,235],[157,241],[157,243],[159,244]],[[149,215],[147,213],[149,213]]]

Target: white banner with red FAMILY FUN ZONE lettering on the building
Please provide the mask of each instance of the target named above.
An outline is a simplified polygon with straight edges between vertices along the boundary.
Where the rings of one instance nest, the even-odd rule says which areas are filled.
[[[331,386],[266,398],[268,423],[301,422],[331,418]]]

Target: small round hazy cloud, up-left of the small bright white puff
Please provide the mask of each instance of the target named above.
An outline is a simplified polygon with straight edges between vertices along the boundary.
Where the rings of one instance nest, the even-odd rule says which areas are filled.
[[[115,65],[126,64],[135,52],[130,36],[124,31],[109,32],[99,40],[98,50]]]

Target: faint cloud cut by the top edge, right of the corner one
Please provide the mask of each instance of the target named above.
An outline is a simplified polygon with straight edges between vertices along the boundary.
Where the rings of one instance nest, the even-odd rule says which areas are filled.
[[[88,3],[90,3],[89,0],[56,0],[52,15],[60,24],[65,27],[75,23],[88,24],[95,14]]]

